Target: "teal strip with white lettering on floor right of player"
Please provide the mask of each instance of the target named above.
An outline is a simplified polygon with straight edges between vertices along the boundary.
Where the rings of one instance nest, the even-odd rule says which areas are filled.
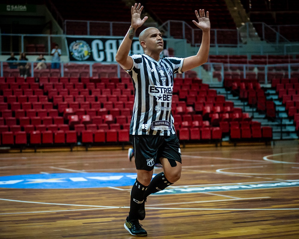
[[[268,189],[268,188],[285,188],[298,187],[299,181],[295,182],[277,182],[277,183],[263,183],[263,184],[248,184],[248,185],[230,185],[230,186],[214,186],[214,187],[188,187],[188,188],[174,188],[164,189],[155,193],[154,195],[167,194],[182,194],[182,193],[199,193],[199,192],[219,192],[219,191],[236,191],[248,189]]]

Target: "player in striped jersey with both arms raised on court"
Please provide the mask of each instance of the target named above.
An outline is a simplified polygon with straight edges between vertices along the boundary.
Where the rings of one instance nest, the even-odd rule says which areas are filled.
[[[173,184],[181,174],[180,144],[171,114],[173,75],[183,73],[207,62],[210,49],[210,21],[204,10],[195,11],[203,31],[198,53],[187,58],[160,58],[163,51],[162,34],[157,28],[146,28],[139,35],[142,55],[128,55],[136,29],[148,19],[140,18],[143,6],[132,6],[131,26],[116,54],[116,61],[128,71],[135,89],[135,102],[130,124],[130,137],[135,153],[137,179],[131,190],[130,212],[125,229],[133,236],[146,236],[139,224],[145,218],[148,195]],[[155,163],[163,165],[163,172],[153,179]]]

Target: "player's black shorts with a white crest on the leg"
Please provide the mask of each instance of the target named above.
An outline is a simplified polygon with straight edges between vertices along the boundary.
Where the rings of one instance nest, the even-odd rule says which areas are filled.
[[[176,134],[130,135],[135,153],[136,169],[152,171],[160,158],[173,159],[182,163],[179,140]]]

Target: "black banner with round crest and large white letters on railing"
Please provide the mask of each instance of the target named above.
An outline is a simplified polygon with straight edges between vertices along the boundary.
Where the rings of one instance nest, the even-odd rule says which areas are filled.
[[[66,37],[70,61],[115,62],[123,37]],[[143,54],[138,39],[134,38],[130,54]]]

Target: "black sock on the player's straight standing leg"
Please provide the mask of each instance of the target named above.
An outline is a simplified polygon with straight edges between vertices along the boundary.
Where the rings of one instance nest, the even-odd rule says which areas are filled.
[[[135,181],[131,191],[130,212],[128,220],[138,219],[138,210],[143,203],[144,193],[147,190],[147,186],[142,185],[140,182]]]

